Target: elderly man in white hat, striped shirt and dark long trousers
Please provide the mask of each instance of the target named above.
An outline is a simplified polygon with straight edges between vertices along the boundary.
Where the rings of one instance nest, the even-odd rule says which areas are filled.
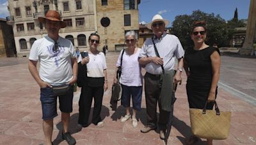
[[[173,83],[181,83],[184,50],[179,39],[164,32],[169,24],[161,15],[155,15],[147,24],[154,37],[147,39],[141,48],[139,63],[145,66],[145,97],[147,106],[147,125],[141,132],[147,133],[159,127],[159,136],[164,139],[164,132],[170,114]],[[178,60],[177,71],[174,70],[175,58]],[[159,104],[159,121],[157,123],[157,102]]]

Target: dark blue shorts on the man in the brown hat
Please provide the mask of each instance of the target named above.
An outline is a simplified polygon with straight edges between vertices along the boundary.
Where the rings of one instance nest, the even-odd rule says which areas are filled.
[[[40,88],[40,100],[42,104],[43,120],[51,120],[57,113],[57,97],[59,97],[60,111],[71,113],[73,108],[74,87],[70,87],[66,95],[54,96],[50,87]]]

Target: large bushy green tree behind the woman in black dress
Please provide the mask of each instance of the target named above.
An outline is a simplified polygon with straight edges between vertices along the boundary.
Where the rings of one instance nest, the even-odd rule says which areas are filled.
[[[220,15],[214,13],[208,14],[203,11],[193,11],[191,15],[178,15],[172,23],[172,34],[175,34],[182,43],[184,49],[193,46],[193,41],[190,37],[191,25],[194,21],[204,20],[207,27],[206,43],[212,45],[217,43],[218,46],[227,45],[227,27],[226,22]]]

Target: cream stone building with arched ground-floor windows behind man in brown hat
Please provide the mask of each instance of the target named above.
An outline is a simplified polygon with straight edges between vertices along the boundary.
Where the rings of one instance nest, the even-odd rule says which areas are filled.
[[[36,39],[47,35],[38,17],[44,17],[48,10],[58,10],[67,27],[60,30],[60,36],[70,39],[75,47],[87,49],[87,38],[95,32],[95,0],[8,0],[10,16],[6,19],[13,26],[17,55],[28,56]]]

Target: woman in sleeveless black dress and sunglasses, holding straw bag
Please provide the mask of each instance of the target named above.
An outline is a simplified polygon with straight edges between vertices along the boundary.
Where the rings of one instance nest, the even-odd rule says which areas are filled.
[[[212,109],[217,95],[217,85],[220,78],[220,54],[215,48],[205,44],[207,30],[205,22],[194,22],[191,29],[191,39],[194,47],[188,48],[184,57],[184,69],[188,76],[186,85],[189,108]],[[188,144],[198,141],[192,135]],[[212,139],[207,139],[212,144]]]

